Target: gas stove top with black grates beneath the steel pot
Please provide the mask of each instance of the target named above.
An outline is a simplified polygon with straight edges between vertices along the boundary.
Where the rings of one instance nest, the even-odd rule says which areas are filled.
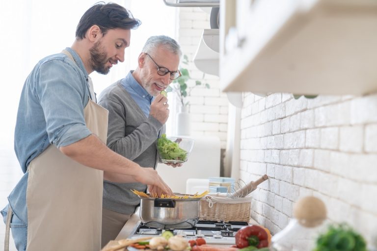
[[[207,244],[235,244],[235,234],[247,222],[223,222],[223,221],[201,221],[196,226],[184,229],[162,229],[145,226],[139,221],[132,231],[130,238],[140,238],[145,236],[161,235],[163,231],[169,230],[174,235],[179,234],[187,239],[202,237]]]

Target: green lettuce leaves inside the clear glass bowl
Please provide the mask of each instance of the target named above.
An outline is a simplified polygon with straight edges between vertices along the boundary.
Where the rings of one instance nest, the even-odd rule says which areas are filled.
[[[186,161],[187,151],[181,149],[177,142],[173,142],[166,138],[166,134],[162,134],[157,140],[157,148],[161,159]]]

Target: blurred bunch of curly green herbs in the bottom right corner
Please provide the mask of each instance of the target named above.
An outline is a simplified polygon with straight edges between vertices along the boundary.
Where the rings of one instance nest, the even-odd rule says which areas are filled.
[[[317,239],[314,251],[367,251],[364,238],[343,223],[331,225]]]

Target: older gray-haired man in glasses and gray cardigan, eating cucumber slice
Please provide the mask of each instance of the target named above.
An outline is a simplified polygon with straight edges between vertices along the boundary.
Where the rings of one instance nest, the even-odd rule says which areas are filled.
[[[150,37],[138,57],[136,70],[101,93],[99,104],[109,111],[108,147],[141,166],[157,166],[155,142],[165,132],[169,116],[167,99],[160,93],[181,75],[181,54],[174,39]],[[140,203],[131,189],[145,192],[147,186],[122,183],[105,173],[102,245],[118,235]],[[150,186],[148,190],[159,192]]]

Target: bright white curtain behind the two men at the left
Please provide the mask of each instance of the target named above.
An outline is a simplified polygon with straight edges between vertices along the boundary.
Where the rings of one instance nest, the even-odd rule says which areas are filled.
[[[46,55],[72,45],[81,15],[97,0],[5,0],[0,8],[0,149],[13,151],[13,132],[22,86],[34,65]],[[112,0],[130,9],[142,25],[132,30],[125,62],[112,67],[108,75],[91,74],[99,94],[137,65],[146,39],[165,34],[176,38],[177,8],[162,0]],[[173,116],[171,116],[173,117]],[[172,119],[172,118],[171,118]]]

